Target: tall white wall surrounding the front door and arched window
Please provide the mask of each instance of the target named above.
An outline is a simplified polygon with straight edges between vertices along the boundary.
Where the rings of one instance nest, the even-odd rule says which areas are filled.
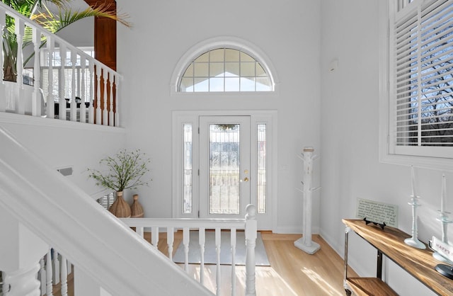
[[[173,110],[277,110],[278,231],[302,232],[297,191],[304,146],[319,149],[320,7],[313,0],[117,1],[134,28],[118,26],[117,69],[124,75],[122,113],[127,143],[152,158],[153,180],[139,194],[147,217],[171,217],[171,112]],[[171,96],[171,74],[199,42],[234,36],[270,58],[280,91],[270,96]],[[318,170],[319,173],[319,170]],[[313,225],[319,229],[319,203]]]

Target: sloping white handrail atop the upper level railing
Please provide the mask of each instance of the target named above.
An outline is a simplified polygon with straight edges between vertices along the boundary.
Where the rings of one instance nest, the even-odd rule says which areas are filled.
[[[67,42],[66,40],[59,37],[58,35],[55,35],[54,33],[50,32],[49,30],[46,30],[45,28],[42,27],[42,25],[36,23],[35,21],[30,20],[30,18],[23,16],[23,14],[18,13],[13,8],[9,7],[8,5],[4,4],[3,2],[0,2],[0,8],[4,9],[4,11],[6,11],[6,14],[8,14],[9,16],[13,16],[15,18],[20,18],[25,23],[25,25],[27,25],[31,28],[38,28],[40,30],[40,32],[42,33],[42,35],[45,35],[47,38],[52,38],[60,45],[60,47],[62,45],[64,45],[64,47],[66,47],[67,50],[76,51],[78,55],[83,56],[88,60],[93,59],[93,57],[86,54],[82,50],[79,50],[79,48],[75,47],[74,45],[71,45],[71,43]],[[96,60],[96,59],[93,59],[93,60]],[[117,75],[120,79],[122,79],[122,76],[120,74],[115,72],[113,69],[108,67],[106,64],[103,64],[102,62],[99,62],[98,60],[96,60],[96,65],[100,66],[101,68],[109,69],[109,71],[112,71],[113,73],[115,73],[115,75]]]

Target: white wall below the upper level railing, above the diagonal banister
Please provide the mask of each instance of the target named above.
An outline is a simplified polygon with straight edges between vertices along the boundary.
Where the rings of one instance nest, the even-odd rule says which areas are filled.
[[[99,169],[98,161],[125,147],[121,128],[71,123],[0,113],[0,127],[55,170],[71,167],[67,178],[93,198],[106,192],[88,178],[87,169]],[[57,186],[57,184],[55,184]]]

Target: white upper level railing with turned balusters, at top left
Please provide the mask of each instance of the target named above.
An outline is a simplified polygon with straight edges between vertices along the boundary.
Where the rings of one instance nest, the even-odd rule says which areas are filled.
[[[18,78],[4,81],[0,72],[0,112],[120,126],[120,74],[0,2],[1,32],[6,18],[14,19]],[[33,42],[23,48],[25,33],[33,35]],[[6,41],[4,35],[0,38]],[[33,56],[32,67],[24,67],[24,54]],[[0,55],[2,69],[3,65]]]

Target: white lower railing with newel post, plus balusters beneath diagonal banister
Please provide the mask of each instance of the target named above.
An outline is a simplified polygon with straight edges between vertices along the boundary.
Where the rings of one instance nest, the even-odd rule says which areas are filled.
[[[216,294],[220,295],[220,288],[224,279],[220,269],[220,253],[226,251],[220,248],[221,231],[231,233],[231,295],[236,295],[236,230],[243,231],[246,244],[246,275],[240,282],[245,283],[245,295],[256,296],[256,279],[255,279],[255,246],[256,246],[256,207],[248,205],[246,207],[245,219],[159,219],[159,218],[122,218],[121,220],[127,226],[134,227],[137,234],[144,238],[144,229],[151,229],[151,240],[149,243],[157,249],[159,243],[159,233],[165,230],[166,244],[168,246],[168,258],[173,259],[175,249],[174,233],[177,230],[182,230],[185,262],[184,271],[189,273],[189,241],[190,232],[196,230],[199,233],[200,244],[200,273],[199,279],[202,285],[205,284],[205,234],[207,231],[214,231],[214,238],[217,254],[216,262]],[[72,264],[62,254],[55,249],[49,249],[47,254],[40,259],[40,270],[38,271],[38,280],[40,281],[40,295],[52,296],[59,293],[62,296],[68,295],[69,279],[74,279],[74,268]],[[0,275],[1,279],[1,275]],[[74,284],[74,282],[73,282]],[[59,291],[59,292],[58,292]],[[0,296],[1,280],[0,280]],[[76,294],[79,295],[79,294]]]

